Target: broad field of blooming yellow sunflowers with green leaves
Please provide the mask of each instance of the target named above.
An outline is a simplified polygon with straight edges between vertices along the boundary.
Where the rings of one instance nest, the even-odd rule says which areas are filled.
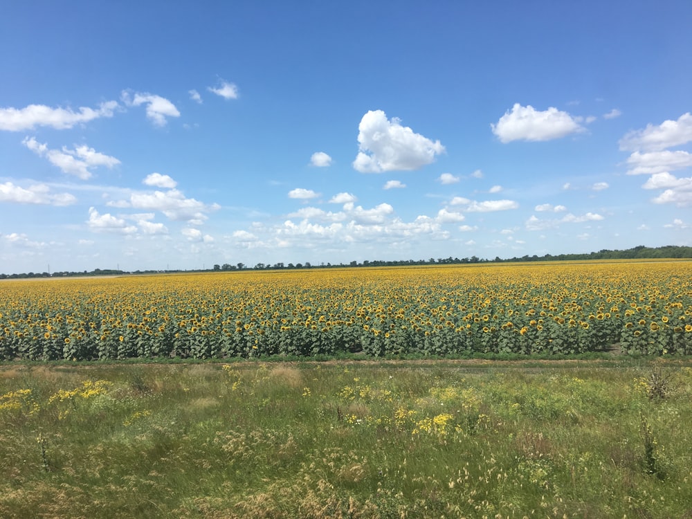
[[[692,354],[692,262],[3,281],[0,359]]]

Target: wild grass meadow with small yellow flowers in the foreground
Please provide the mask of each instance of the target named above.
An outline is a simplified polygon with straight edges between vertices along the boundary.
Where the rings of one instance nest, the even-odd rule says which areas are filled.
[[[690,518],[692,360],[8,364],[3,518]]]

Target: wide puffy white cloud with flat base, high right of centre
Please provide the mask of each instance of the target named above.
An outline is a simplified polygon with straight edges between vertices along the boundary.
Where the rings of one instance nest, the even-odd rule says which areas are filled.
[[[554,107],[537,111],[531,105],[522,107],[519,103],[514,104],[511,112],[505,112],[496,125],[490,126],[502,143],[552,140],[584,131],[579,122],[565,111]]]

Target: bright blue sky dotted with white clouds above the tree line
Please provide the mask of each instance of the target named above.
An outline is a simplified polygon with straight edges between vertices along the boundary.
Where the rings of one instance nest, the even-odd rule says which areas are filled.
[[[0,272],[692,245],[688,1],[24,1]]]

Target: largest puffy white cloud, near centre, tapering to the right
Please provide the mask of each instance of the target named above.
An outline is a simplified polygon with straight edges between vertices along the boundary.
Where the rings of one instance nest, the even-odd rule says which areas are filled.
[[[358,125],[360,151],[353,167],[361,173],[418,170],[444,152],[439,140],[415,134],[401,126],[398,118],[388,120],[381,110],[368,111]]]

